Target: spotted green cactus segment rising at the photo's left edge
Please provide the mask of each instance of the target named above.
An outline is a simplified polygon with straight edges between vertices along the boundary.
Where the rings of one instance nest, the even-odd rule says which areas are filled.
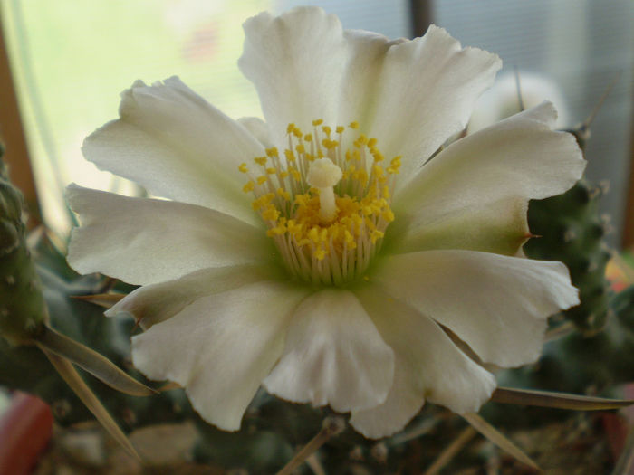
[[[22,194],[9,182],[0,158],[0,335],[12,345],[31,343],[47,315],[22,211]]]

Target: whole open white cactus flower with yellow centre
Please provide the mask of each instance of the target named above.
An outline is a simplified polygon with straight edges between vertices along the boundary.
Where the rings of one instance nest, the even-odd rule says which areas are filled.
[[[552,105],[427,161],[466,127],[495,54],[436,26],[390,41],[303,7],[247,20],[239,66],[265,122],[178,78],[138,81],[85,141],[97,166],[168,198],[68,191],[72,267],[142,286],[108,312],[140,319],[134,365],[228,431],[260,385],[351,412],[371,438],[425,401],[477,411],[495,389],[481,363],[533,362],[546,318],[578,303],[561,262],[522,253],[528,200],[584,168]]]

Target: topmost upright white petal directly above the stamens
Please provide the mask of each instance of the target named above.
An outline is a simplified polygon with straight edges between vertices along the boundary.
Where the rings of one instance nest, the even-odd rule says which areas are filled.
[[[273,17],[261,13],[245,24],[238,62],[255,84],[274,143],[287,143],[286,126],[305,132],[312,119],[334,124],[339,107],[346,42],[339,19],[318,7],[294,8]]]

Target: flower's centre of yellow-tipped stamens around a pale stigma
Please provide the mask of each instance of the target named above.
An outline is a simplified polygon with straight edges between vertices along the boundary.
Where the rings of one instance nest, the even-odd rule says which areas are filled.
[[[289,124],[283,158],[267,148],[266,157],[254,158],[254,171],[245,163],[239,170],[249,176],[243,190],[255,195],[253,208],[288,270],[339,285],[362,277],[394,220],[389,204],[400,157],[384,163],[377,139],[363,134],[344,152],[346,128],[333,133],[322,122],[312,121],[312,134]]]

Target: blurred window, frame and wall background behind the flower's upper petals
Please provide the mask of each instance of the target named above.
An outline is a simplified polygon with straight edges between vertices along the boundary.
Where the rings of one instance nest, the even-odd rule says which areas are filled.
[[[63,202],[71,182],[127,193],[126,185],[82,158],[82,140],[117,117],[119,93],[136,79],[178,75],[229,116],[261,116],[255,90],[237,69],[242,22],[262,10],[282,12],[299,0],[1,0],[0,131],[12,174],[54,231],[72,225]],[[630,0],[326,0],[345,28],[412,37],[443,26],[463,44],[498,53],[504,70],[474,117],[483,127],[516,107],[514,69],[525,101],[555,101],[560,126],[586,119],[618,75],[599,110],[588,147],[588,176],[610,182],[603,211],[613,245],[634,242],[632,70],[634,3]],[[13,81],[12,81],[13,80]],[[12,108],[12,101],[16,107]],[[502,100],[502,102],[504,102]],[[510,111],[507,111],[508,113]],[[16,117],[17,115],[17,117]],[[16,128],[16,120],[22,128]],[[476,124],[477,122],[477,124]],[[24,136],[24,138],[23,138]],[[21,143],[24,142],[24,143]],[[34,185],[27,157],[33,166]],[[17,166],[17,163],[22,165]],[[33,189],[31,189],[33,188]],[[38,207],[39,206],[39,207]]]

